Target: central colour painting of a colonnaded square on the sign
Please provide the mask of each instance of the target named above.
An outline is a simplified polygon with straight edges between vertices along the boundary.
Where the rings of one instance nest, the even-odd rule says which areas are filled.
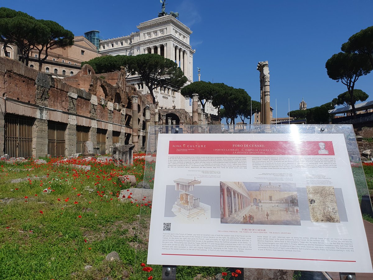
[[[294,183],[220,182],[220,222],[301,225]]]

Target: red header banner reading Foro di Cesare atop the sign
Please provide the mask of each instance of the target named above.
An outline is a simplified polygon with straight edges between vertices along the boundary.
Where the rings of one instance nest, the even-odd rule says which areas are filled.
[[[332,141],[170,141],[170,155],[334,156]]]

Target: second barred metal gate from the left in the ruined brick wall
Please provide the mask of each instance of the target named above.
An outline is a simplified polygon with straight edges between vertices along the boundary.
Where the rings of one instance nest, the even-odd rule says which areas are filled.
[[[65,156],[66,124],[48,121],[48,154]]]

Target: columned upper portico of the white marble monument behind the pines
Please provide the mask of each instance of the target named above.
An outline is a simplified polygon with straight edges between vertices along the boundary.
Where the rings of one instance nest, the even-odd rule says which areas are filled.
[[[169,42],[145,47],[144,53],[157,53],[158,55],[163,53],[165,58],[175,61],[184,73],[188,70],[188,50],[185,50],[176,44]]]

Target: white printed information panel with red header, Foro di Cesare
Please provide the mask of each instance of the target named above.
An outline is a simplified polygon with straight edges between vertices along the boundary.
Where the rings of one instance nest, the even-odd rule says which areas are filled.
[[[344,134],[159,134],[148,264],[373,272]]]

